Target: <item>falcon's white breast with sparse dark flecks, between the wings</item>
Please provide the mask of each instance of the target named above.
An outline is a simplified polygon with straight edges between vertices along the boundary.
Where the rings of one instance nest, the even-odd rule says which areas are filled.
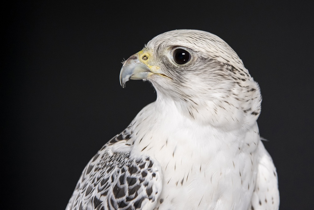
[[[133,128],[138,139],[133,153],[160,164],[159,209],[248,208],[257,170],[257,124],[247,132],[224,132],[195,124],[176,109],[159,112],[152,103]]]

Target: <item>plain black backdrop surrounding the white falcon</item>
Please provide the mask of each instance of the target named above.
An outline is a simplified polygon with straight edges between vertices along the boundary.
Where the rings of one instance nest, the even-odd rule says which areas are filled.
[[[280,208],[312,209],[312,5],[204,2],[3,5],[1,209],[66,207],[89,159],[156,98],[148,82],[121,88],[122,60],[174,29],[214,33],[238,53],[261,87]]]

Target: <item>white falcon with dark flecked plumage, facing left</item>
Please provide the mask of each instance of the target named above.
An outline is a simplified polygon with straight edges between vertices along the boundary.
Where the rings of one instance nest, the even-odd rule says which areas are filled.
[[[157,99],[89,161],[67,210],[279,208],[259,86],[225,41],[163,33],[124,62],[122,87],[130,79]]]

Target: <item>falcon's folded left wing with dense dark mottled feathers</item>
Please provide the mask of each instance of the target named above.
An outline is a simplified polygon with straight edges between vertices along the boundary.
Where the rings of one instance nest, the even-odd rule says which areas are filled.
[[[154,209],[162,180],[148,156],[133,157],[127,132],[109,141],[85,167],[68,203],[70,209]]]

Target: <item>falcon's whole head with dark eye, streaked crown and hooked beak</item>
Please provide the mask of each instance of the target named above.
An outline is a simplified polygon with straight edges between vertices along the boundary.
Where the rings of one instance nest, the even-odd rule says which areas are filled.
[[[120,82],[149,80],[158,101],[172,101],[189,118],[224,130],[252,126],[260,113],[258,84],[236,52],[214,34],[173,30],[128,58]]]

